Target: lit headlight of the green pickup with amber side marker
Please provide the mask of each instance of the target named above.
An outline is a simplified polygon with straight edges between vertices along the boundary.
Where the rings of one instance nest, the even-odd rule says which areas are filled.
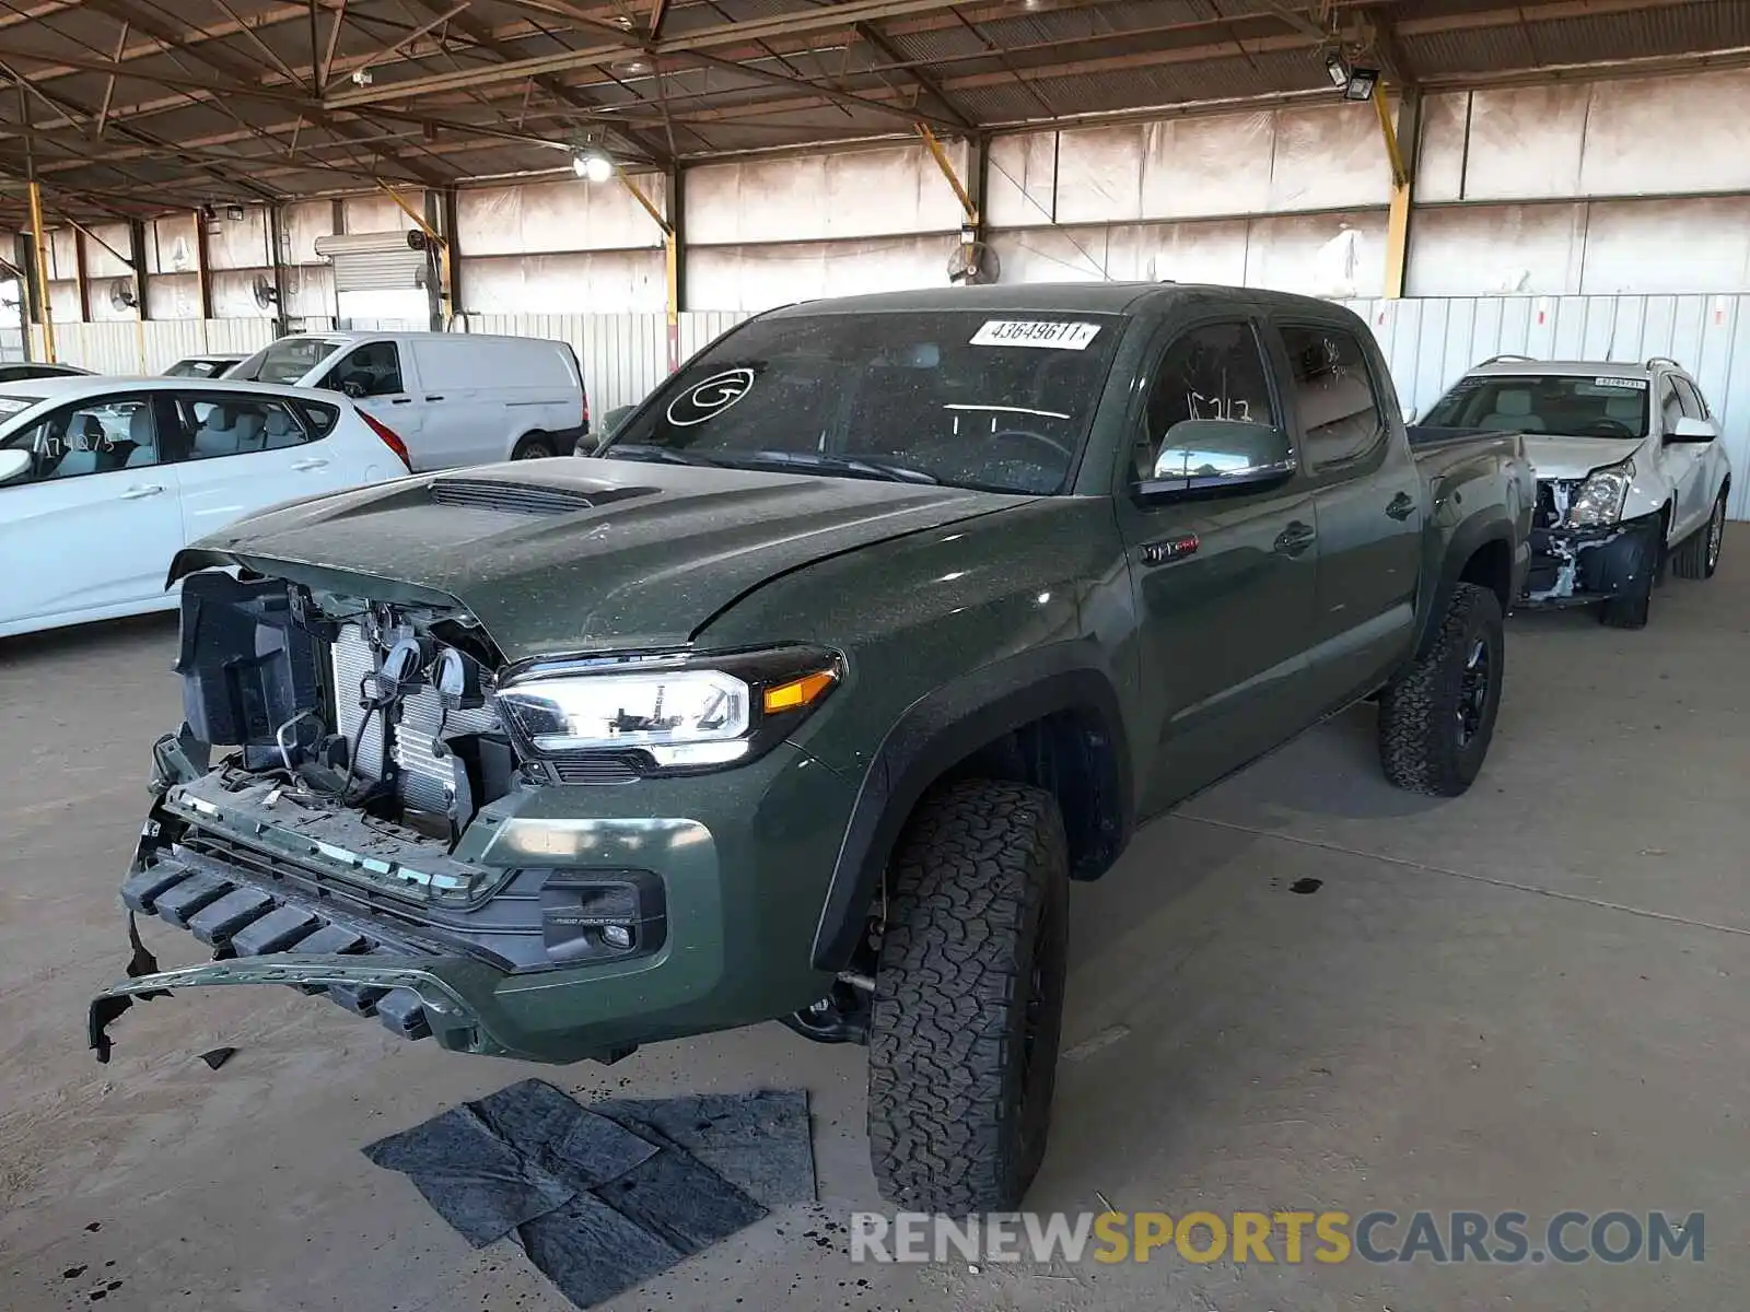
[[[536,759],[606,757],[640,775],[691,773],[774,747],[842,672],[838,653],[821,647],[556,661],[513,673],[497,703]]]

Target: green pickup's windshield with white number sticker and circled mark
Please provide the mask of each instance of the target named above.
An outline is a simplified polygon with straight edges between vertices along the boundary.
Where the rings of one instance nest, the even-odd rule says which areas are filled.
[[[602,455],[1062,492],[1122,325],[1024,310],[761,318],[695,357]]]

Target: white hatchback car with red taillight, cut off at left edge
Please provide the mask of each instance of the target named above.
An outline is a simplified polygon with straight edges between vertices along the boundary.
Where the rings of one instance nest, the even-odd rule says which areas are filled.
[[[285,500],[406,478],[346,397],[194,378],[0,383],[0,637],[168,611],[186,544]]]

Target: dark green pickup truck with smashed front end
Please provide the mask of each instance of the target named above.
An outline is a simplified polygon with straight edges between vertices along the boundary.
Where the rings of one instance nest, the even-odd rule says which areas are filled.
[[[595,458],[304,500],[186,551],[186,724],[91,1043],[290,983],[541,1062],[866,1043],[894,1204],[1018,1204],[1069,882],[1344,707],[1456,796],[1535,483],[1409,434],[1367,327],[1176,285],[903,292],[718,339]],[[1136,871],[1132,871],[1136,876]]]

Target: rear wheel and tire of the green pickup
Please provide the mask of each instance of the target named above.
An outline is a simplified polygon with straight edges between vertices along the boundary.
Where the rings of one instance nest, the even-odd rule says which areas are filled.
[[[1466,670],[1479,642],[1488,682],[1466,738]],[[1474,583],[1456,584],[1433,646],[1379,696],[1379,764],[1388,782],[1437,798],[1456,798],[1472,785],[1494,736],[1503,656],[1500,598]]]

